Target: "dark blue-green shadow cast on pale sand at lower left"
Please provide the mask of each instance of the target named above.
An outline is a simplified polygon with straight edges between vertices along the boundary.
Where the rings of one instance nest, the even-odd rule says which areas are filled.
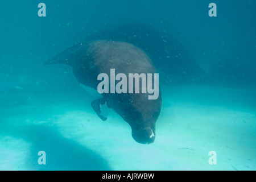
[[[79,143],[63,138],[47,125],[11,128],[1,127],[1,133],[32,143],[26,157],[29,170],[111,170],[108,162]],[[38,164],[39,151],[46,152],[46,165]]]

